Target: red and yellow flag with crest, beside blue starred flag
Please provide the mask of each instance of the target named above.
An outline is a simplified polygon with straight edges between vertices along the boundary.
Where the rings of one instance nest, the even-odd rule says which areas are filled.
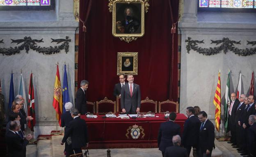
[[[56,119],[59,121],[59,126],[61,126],[60,117],[62,116],[62,105],[62,88],[59,77],[59,65],[57,65],[57,72],[54,83],[53,107],[56,111]]]

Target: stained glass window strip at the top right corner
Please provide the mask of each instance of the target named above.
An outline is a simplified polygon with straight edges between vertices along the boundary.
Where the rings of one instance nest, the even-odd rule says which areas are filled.
[[[199,0],[199,8],[256,8],[256,0]]]

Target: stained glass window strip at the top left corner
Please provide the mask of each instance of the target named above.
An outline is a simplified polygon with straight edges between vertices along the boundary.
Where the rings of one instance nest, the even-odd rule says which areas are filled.
[[[0,0],[0,6],[50,6],[50,0]]]

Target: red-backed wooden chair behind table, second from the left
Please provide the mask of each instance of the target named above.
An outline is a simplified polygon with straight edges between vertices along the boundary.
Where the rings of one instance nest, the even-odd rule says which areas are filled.
[[[108,112],[116,113],[116,102],[108,100],[107,97],[104,100],[96,102],[96,113],[106,114]]]

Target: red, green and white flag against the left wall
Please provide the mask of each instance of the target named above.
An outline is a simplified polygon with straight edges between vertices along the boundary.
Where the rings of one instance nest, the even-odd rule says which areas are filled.
[[[30,74],[30,86],[29,86],[29,93],[28,93],[28,116],[32,116],[34,119],[28,121],[27,126],[34,132],[34,126],[36,124],[36,114],[34,108],[34,87],[33,87],[33,74]]]

